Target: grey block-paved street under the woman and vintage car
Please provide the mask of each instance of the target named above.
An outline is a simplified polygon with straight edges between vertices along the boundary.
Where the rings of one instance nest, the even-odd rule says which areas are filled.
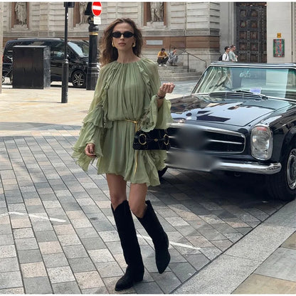
[[[57,104],[60,88],[0,95],[0,294],[113,294],[124,274],[105,176],[70,157],[90,94],[69,89],[69,105]],[[283,206],[248,176],[168,169],[161,182],[147,199],[171,263],[157,273],[152,240],[135,219],[145,274],[125,293],[174,292]]]

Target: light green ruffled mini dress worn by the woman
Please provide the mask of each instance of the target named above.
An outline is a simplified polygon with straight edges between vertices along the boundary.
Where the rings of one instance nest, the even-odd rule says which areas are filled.
[[[72,156],[83,170],[95,160],[84,151],[86,144],[93,143],[97,174],[117,174],[133,184],[159,185],[157,171],[165,167],[166,151],[132,148],[136,128],[149,132],[166,129],[171,122],[170,102],[164,100],[157,108],[159,86],[157,64],[147,58],[133,63],[114,61],[102,67],[73,147]]]

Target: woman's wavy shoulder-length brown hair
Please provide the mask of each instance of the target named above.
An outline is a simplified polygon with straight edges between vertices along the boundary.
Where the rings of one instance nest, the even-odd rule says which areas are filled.
[[[132,21],[130,18],[117,18],[115,21],[110,23],[107,28],[104,30],[104,34],[102,36],[102,43],[100,46],[100,63],[101,65],[106,65],[107,63],[111,63],[114,60],[117,60],[118,58],[118,51],[117,48],[112,46],[112,32],[113,28],[118,23],[129,23],[130,26],[134,29],[134,40],[136,41],[136,46],[132,48],[132,51],[136,56],[141,55],[142,51],[142,45],[143,45],[143,39],[142,39],[142,33],[137,28],[136,23]]]

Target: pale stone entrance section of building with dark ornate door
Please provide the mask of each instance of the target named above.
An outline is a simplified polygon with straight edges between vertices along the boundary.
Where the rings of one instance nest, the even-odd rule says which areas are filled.
[[[240,61],[295,63],[295,2],[223,2],[220,6],[220,50],[236,44]],[[222,20],[223,16],[223,20]],[[285,54],[274,54],[274,43]]]

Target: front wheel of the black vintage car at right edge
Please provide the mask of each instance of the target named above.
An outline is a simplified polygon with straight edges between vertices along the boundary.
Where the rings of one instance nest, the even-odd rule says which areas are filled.
[[[268,192],[275,199],[292,201],[296,197],[296,146],[290,145],[279,173],[267,176]]]

